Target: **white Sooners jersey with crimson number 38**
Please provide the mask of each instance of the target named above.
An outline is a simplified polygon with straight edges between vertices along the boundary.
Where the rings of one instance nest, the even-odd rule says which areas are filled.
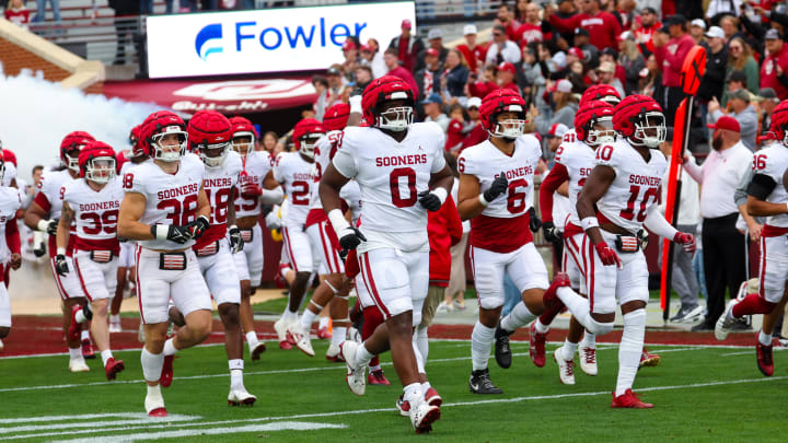
[[[146,198],[146,210],[140,223],[174,224],[183,226],[197,218],[199,189],[205,177],[205,165],[196,155],[184,155],[178,171],[167,174],[153,161],[144,162],[123,177],[126,193],[138,193]],[[140,246],[151,249],[175,250],[194,245],[190,240],[178,244],[169,240],[146,240]]]

